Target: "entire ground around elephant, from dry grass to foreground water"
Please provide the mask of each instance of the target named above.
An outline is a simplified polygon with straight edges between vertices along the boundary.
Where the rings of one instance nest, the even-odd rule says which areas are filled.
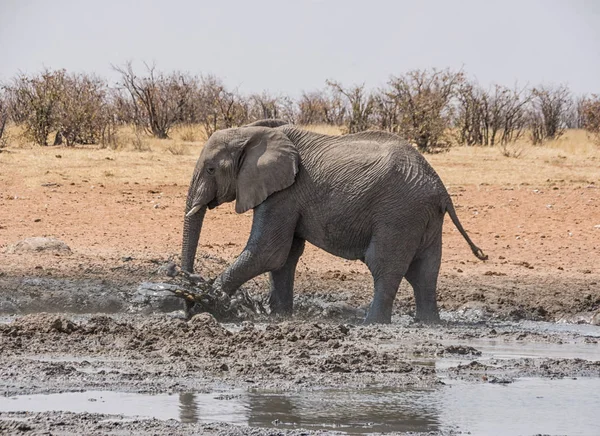
[[[361,326],[366,267],[312,246],[291,320],[161,313],[180,302],[153,305],[138,286],[179,263],[202,132],[119,135],[115,148],[14,140],[0,153],[0,433],[594,434],[598,327],[529,323],[600,324],[600,149],[585,132],[426,155],[489,256],[447,220],[436,326],[412,321],[405,283],[392,325]],[[209,211],[196,271],[220,273],[251,222],[231,204]],[[14,249],[33,236],[70,251]],[[261,298],[266,278],[246,288]]]

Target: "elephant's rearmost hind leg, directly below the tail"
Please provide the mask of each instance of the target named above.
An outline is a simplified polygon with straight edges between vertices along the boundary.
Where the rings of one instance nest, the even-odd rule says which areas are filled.
[[[438,322],[437,279],[442,259],[441,236],[423,252],[419,253],[408,267],[406,280],[415,294],[416,319],[424,322]]]

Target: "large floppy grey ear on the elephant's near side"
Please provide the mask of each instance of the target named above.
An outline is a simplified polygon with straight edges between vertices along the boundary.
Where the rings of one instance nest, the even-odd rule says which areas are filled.
[[[235,211],[244,213],[292,185],[299,160],[298,150],[285,133],[263,128],[252,134],[240,158]]]

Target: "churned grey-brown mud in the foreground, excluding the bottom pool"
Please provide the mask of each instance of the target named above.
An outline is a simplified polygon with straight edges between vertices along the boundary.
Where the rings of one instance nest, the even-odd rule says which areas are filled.
[[[25,315],[5,319],[0,325],[0,390],[15,398],[81,391],[216,391],[221,392],[216,399],[225,404],[248,391],[384,388],[435,392],[457,380],[509,385],[532,377],[600,377],[598,328],[561,331],[552,324],[473,322],[457,314],[445,317],[453,318],[431,327],[415,324],[407,316],[397,317],[391,326],[361,326],[332,319],[221,324],[208,314],[190,322],[172,315]],[[490,357],[486,344],[518,347],[523,355]],[[276,425],[260,430],[223,423],[132,419],[127,414],[15,411],[2,412],[0,418],[0,431],[26,434],[297,431]],[[464,431],[468,429],[440,428],[428,434]]]

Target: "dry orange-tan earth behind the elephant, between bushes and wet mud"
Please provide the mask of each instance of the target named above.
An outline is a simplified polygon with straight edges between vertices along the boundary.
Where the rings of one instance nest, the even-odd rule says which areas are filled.
[[[202,142],[189,128],[173,136],[143,139],[135,148],[146,151],[134,150],[124,135],[116,150],[13,143],[0,153],[0,276],[139,281],[156,269],[152,261],[178,262],[187,183]],[[458,147],[427,159],[489,255],[487,262],[475,259],[448,220],[442,307],[571,320],[600,311],[600,148],[584,133],[523,146],[519,158],[498,148]],[[232,205],[209,212],[200,252],[232,260],[251,221],[252,212],[237,215]],[[57,237],[73,253],[6,253],[30,236]],[[224,267],[211,265],[209,275]],[[357,304],[370,298],[370,276],[359,262],[308,247],[298,271],[299,292],[349,290]],[[412,305],[404,285],[398,304]]]

